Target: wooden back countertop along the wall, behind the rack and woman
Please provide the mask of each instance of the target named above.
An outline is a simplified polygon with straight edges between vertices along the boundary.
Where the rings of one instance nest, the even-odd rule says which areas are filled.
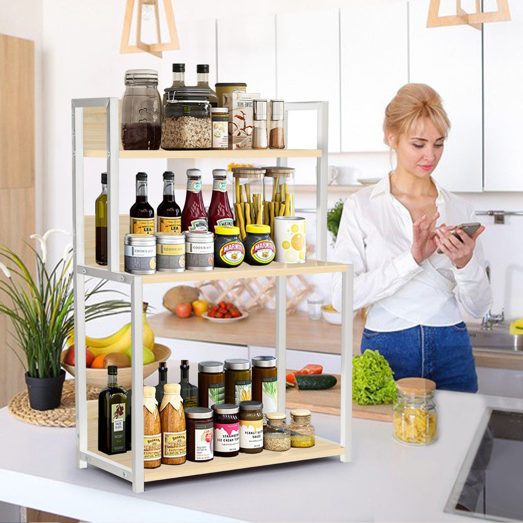
[[[245,320],[219,325],[202,317],[180,319],[170,312],[148,317],[156,336],[231,345],[274,347],[276,316],[274,309],[255,309]],[[353,354],[360,353],[365,319],[357,314],[353,320]],[[314,353],[340,354],[342,328],[323,319],[309,320],[305,312],[287,316],[287,348]],[[473,349],[477,367],[523,370],[523,353]]]

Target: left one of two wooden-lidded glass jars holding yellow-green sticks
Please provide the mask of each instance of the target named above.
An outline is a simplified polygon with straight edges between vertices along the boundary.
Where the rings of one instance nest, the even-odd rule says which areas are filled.
[[[234,224],[240,228],[245,240],[245,227],[251,223],[263,225],[263,194],[265,169],[258,167],[233,167]]]

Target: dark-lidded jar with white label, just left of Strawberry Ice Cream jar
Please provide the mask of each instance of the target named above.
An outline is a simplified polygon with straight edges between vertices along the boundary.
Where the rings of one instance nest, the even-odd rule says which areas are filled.
[[[185,409],[187,427],[187,460],[203,463],[214,457],[212,409],[189,407]]]

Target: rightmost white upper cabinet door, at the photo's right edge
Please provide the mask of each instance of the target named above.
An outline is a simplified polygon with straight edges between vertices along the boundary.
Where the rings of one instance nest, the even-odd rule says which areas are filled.
[[[510,17],[510,22],[483,26],[486,191],[523,191],[521,1],[510,2]]]

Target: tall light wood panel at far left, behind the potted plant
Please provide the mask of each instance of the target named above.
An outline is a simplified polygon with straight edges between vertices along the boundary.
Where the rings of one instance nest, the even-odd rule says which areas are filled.
[[[34,42],[0,35],[0,245],[20,254],[30,269],[24,242],[35,232]],[[0,277],[5,276],[0,273]],[[0,299],[4,300],[3,295]],[[12,324],[0,316],[0,407],[25,389],[24,368],[8,344]]]

